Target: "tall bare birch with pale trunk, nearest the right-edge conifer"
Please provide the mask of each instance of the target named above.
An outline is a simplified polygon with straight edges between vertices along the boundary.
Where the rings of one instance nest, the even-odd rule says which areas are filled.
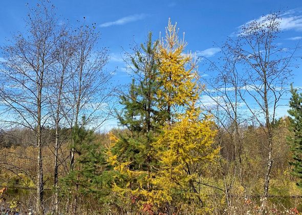
[[[267,137],[267,159],[264,176],[264,197],[269,195],[269,182],[274,158],[273,123],[276,110],[288,91],[291,77],[292,59],[296,48],[281,48],[276,45],[280,32],[281,16],[270,13],[259,20],[253,20],[241,27],[238,35],[239,46],[229,49],[242,63],[242,83],[239,96],[252,117],[259,125],[264,125]],[[252,102],[249,102],[249,99]]]

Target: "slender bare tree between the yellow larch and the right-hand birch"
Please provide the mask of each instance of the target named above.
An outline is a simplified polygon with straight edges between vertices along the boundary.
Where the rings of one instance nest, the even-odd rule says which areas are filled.
[[[241,77],[237,71],[238,60],[224,45],[220,47],[219,62],[202,57],[210,77],[202,77],[201,84],[206,84],[203,93],[208,102],[201,100],[203,108],[215,118],[218,134],[217,142],[221,147],[220,166],[224,181],[226,202],[231,206],[230,190],[235,179],[244,185],[242,177],[242,135],[240,134],[243,118],[241,98],[238,89]],[[221,63],[222,62],[222,63]]]

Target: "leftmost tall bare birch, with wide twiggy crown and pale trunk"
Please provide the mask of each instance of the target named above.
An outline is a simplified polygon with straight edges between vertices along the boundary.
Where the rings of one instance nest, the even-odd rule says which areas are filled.
[[[42,164],[42,132],[48,123],[47,79],[54,63],[57,42],[57,19],[54,7],[42,2],[29,8],[26,33],[12,37],[2,48],[0,100],[4,116],[1,121],[9,127],[27,127],[35,134],[37,148],[36,212],[44,213],[44,177]]]

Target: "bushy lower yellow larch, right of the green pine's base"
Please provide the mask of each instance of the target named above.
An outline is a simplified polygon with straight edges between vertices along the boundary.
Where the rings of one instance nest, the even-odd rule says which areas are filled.
[[[192,195],[194,181],[198,178],[193,166],[213,162],[219,149],[212,147],[215,131],[210,118],[200,120],[198,109],[191,109],[178,122],[163,128],[155,143],[161,169],[153,183],[164,190],[187,190]]]

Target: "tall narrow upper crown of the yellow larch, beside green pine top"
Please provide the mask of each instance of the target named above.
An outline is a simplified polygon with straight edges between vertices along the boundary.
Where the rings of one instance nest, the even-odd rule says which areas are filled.
[[[176,24],[169,19],[166,35],[160,40],[157,52],[158,81],[162,87],[157,95],[159,109],[166,113],[166,122],[173,123],[177,112],[189,105],[188,101],[198,97],[196,64],[191,54],[184,54],[187,42],[179,39]]]

